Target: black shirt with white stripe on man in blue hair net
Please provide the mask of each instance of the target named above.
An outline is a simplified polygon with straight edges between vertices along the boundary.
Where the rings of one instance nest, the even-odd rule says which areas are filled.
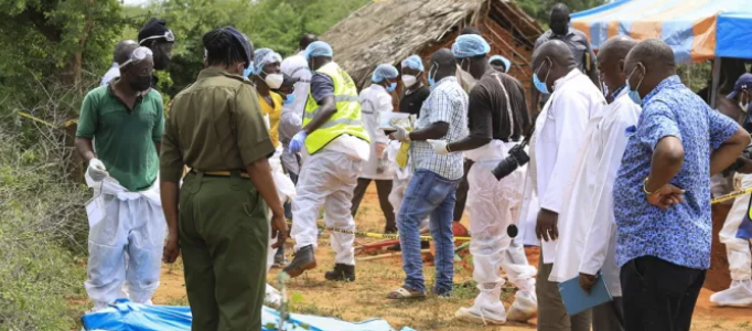
[[[509,96],[512,109],[507,109],[506,97],[498,84],[499,81]],[[470,90],[468,108],[468,126],[470,136],[474,138],[519,141],[525,135],[525,129],[530,126],[530,114],[527,111],[523,84],[507,74],[493,71],[486,73]],[[513,127],[509,124],[508,111],[513,115]]]

